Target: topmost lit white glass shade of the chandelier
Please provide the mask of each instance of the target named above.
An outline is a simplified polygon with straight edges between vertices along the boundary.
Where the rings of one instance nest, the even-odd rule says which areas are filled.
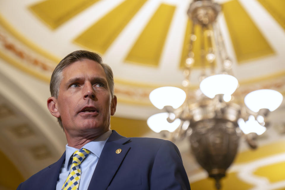
[[[205,96],[214,98],[216,94],[232,95],[238,88],[238,79],[232,75],[213,75],[200,83],[200,90]]]

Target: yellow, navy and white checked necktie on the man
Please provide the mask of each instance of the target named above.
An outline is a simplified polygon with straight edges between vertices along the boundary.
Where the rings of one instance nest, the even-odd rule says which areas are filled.
[[[62,186],[62,190],[76,190],[79,186],[81,169],[80,164],[90,151],[81,148],[74,152],[69,175]]]

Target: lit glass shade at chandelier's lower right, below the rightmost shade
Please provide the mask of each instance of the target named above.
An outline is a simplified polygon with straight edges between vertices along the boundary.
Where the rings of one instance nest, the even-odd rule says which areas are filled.
[[[255,119],[253,115],[248,117],[248,121],[244,122],[242,118],[238,120],[238,125],[240,129],[245,133],[256,133],[258,135],[263,134],[266,131],[266,127],[260,125]]]

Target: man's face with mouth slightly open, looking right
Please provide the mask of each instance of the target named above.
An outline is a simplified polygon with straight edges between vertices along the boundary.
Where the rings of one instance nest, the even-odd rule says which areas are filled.
[[[102,134],[109,130],[116,99],[112,99],[103,67],[84,59],[64,68],[56,108],[66,132]]]

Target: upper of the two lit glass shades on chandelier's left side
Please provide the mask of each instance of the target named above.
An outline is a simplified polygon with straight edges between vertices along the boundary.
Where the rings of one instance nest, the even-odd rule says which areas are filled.
[[[186,99],[186,93],[177,87],[164,86],[156,88],[149,94],[151,103],[158,109],[164,106],[180,107]]]

